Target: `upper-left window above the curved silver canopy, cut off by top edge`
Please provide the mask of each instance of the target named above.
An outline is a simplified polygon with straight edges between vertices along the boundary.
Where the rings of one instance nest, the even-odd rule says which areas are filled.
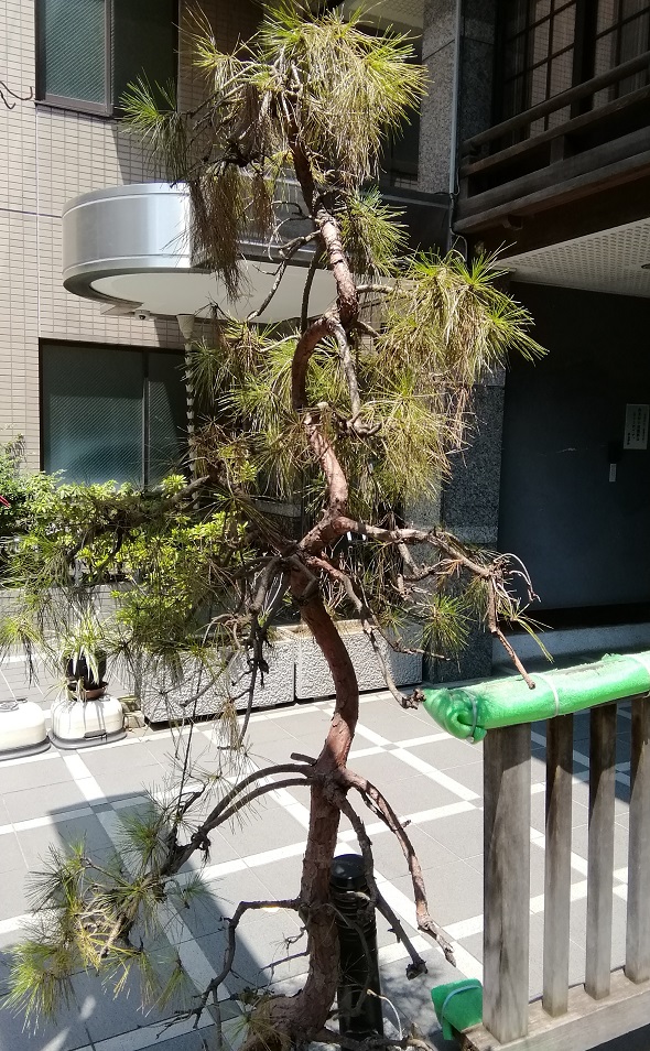
[[[176,79],[177,0],[36,0],[37,95],[110,115],[129,83]]]

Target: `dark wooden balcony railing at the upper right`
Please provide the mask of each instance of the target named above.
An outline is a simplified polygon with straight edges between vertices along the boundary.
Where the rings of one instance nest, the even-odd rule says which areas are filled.
[[[455,229],[470,232],[541,212],[648,169],[650,86],[575,113],[599,91],[648,68],[650,52],[466,140]],[[535,121],[567,107],[575,116],[534,132]]]

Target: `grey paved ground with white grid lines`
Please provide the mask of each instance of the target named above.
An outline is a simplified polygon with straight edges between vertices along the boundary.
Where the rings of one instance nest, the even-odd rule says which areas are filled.
[[[29,687],[20,662],[0,669],[0,700],[11,695],[37,700],[50,707],[52,695],[42,684]],[[258,767],[286,759],[290,752],[315,755],[323,740],[332,705],[316,702],[253,715],[250,724],[250,761]],[[576,716],[574,838],[572,856],[573,907],[571,920],[571,982],[584,976],[587,849],[587,738],[588,719]],[[627,877],[627,801],[629,793],[629,712],[619,717],[617,773],[616,880],[614,898],[613,966],[625,951],[625,899]],[[119,839],[124,815],[143,802],[143,785],[161,788],[172,763],[175,734],[147,729],[123,741],[80,751],[48,752],[0,763],[0,949],[6,951],[21,936],[29,908],[28,877],[50,845],[61,846],[85,837],[88,849],[109,852]],[[195,732],[194,756],[202,766],[218,759],[214,725],[201,724]],[[543,828],[544,828],[544,726],[533,727],[531,822],[531,996],[541,992],[543,928]],[[432,912],[455,943],[461,974],[481,976],[483,900],[483,782],[481,748],[451,738],[438,730],[424,712],[396,708],[388,695],[370,694],[361,701],[350,765],[382,788],[398,812],[411,822],[411,834],[424,869]],[[304,790],[274,792],[243,824],[215,836],[204,876],[209,896],[182,918],[169,918],[169,941],[195,986],[201,989],[220,965],[220,919],[231,913],[240,899],[285,897],[297,891],[300,860],[307,822]],[[431,1008],[432,985],[458,977],[440,952],[414,932],[414,908],[403,858],[392,836],[370,817],[377,878],[392,908],[413,933],[426,956],[429,975],[407,982],[405,953],[396,945],[386,923],[380,922],[379,945],[383,992],[402,1022],[415,1019],[441,1048]],[[354,834],[344,822],[339,853],[356,850]],[[241,1032],[238,992],[271,982],[275,990],[301,985],[304,943],[286,949],[286,939],[300,930],[283,912],[251,913],[240,928],[236,975],[223,989],[226,1036],[236,1045]],[[285,957],[291,955],[292,958]],[[269,964],[281,961],[275,967]],[[0,994],[4,992],[0,960]],[[35,1036],[23,1030],[22,1019],[0,1014],[0,1051],[137,1051],[164,1047],[165,1051],[198,1051],[210,1038],[212,1019],[205,1016],[202,1031],[187,1026],[163,1028],[166,1012],[139,1009],[137,988],[127,998],[113,1000],[91,976],[74,979],[74,996],[56,1026]],[[393,1009],[387,1006],[387,1017]],[[646,1044],[639,1044],[644,1047]],[[627,1043],[626,1047],[632,1045]]]

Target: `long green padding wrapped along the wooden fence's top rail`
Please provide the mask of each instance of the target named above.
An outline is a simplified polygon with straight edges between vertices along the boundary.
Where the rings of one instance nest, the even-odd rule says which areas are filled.
[[[597,704],[650,691],[650,652],[608,654],[593,664],[577,664],[530,676],[492,679],[455,690],[424,690],[424,707],[454,737],[483,740],[489,729],[551,719]]]

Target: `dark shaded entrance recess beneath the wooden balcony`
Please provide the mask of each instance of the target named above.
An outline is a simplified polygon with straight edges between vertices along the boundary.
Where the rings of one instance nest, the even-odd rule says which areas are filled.
[[[506,381],[499,549],[545,609],[650,603],[650,452],[624,448],[626,405],[650,403],[650,301],[512,292],[549,355]]]

